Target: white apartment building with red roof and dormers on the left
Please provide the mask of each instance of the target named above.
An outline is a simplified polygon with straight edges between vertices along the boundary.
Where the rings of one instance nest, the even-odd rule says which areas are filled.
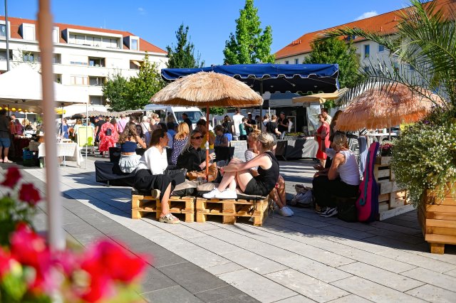
[[[0,16],[0,73],[6,72],[6,26],[9,28],[10,68],[28,64],[41,71],[38,23],[24,18]],[[55,23],[53,28],[55,80],[78,87],[90,110],[106,110],[102,86],[106,78],[121,73],[130,78],[138,73],[145,53],[150,62],[165,68],[167,53],[128,31]],[[24,83],[26,85],[26,83]],[[66,115],[84,112],[85,105],[71,105]]]

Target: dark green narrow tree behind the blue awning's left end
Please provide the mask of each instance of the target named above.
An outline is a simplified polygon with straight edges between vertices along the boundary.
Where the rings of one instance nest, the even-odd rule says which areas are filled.
[[[195,58],[195,46],[190,42],[190,38],[188,38],[188,26],[184,28],[184,23],[176,31],[176,39],[176,46],[171,45],[166,47],[169,58],[166,63],[167,68],[202,68],[204,66],[204,60],[199,63],[199,54]]]

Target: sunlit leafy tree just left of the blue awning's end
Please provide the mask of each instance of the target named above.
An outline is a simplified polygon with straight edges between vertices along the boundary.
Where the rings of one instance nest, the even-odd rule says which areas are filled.
[[[128,109],[137,110],[149,104],[150,97],[165,86],[157,63],[150,63],[146,53],[136,77],[130,78],[128,85]]]

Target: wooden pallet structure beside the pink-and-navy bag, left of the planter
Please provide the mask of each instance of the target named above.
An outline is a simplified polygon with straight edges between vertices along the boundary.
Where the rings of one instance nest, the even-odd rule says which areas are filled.
[[[413,210],[407,191],[398,186],[390,166],[390,156],[375,158],[374,176],[378,183],[378,220],[385,220]]]

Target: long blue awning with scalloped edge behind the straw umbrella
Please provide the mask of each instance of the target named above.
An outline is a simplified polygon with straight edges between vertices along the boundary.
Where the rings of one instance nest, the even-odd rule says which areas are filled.
[[[334,92],[338,90],[337,64],[237,64],[206,68],[164,68],[162,78],[176,80],[193,73],[215,72],[234,77],[256,92]]]

